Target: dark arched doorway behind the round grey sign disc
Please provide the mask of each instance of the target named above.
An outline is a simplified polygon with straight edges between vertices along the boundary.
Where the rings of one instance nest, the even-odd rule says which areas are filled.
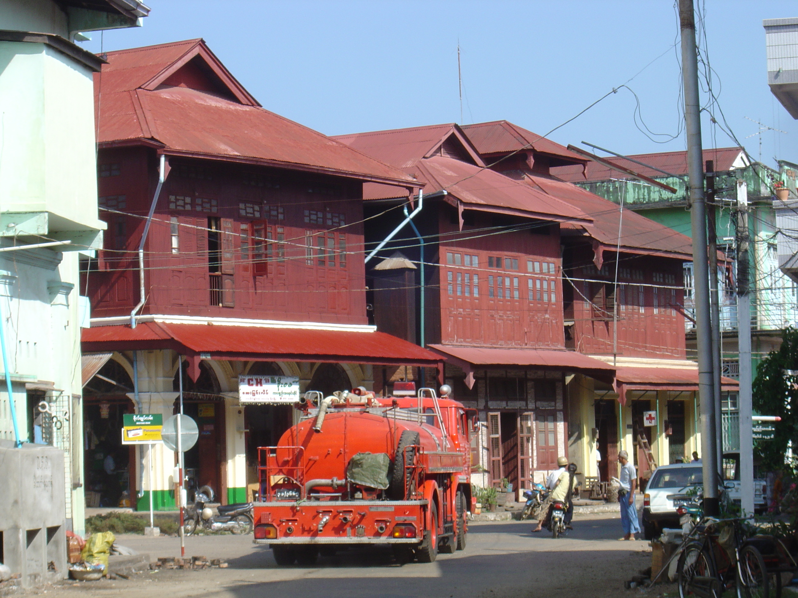
[[[196,382],[188,376],[188,361],[183,362],[183,413],[199,430],[197,443],[185,451],[184,466],[188,497],[202,486],[211,486],[216,500],[227,503],[227,435],[225,434],[224,396],[213,369],[201,361]],[[180,372],[175,372],[172,390],[180,391]],[[180,396],[173,413],[180,412]]]

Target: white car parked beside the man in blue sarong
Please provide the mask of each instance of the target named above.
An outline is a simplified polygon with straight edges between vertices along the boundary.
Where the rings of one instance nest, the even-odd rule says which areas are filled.
[[[642,525],[646,540],[654,540],[662,528],[679,528],[678,506],[690,502],[690,488],[703,484],[701,463],[676,463],[659,466],[651,474],[643,494]]]

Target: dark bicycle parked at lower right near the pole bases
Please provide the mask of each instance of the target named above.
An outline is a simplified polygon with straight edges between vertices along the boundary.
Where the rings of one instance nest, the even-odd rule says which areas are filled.
[[[737,598],[770,598],[771,576],[756,541],[746,537],[743,521],[702,517],[691,530],[677,565],[681,598],[721,598],[731,588]],[[780,580],[776,585],[780,593]]]

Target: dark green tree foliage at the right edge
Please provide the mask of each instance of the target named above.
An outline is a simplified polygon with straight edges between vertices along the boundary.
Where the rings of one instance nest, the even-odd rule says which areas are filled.
[[[781,347],[771,351],[757,366],[753,380],[753,408],[762,415],[780,415],[772,440],[757,443],[757,456],[767,470],[784,469],[788,444],[798,431],[798,330],[784,330]],[[798,443],[793,443],[798,448]]]

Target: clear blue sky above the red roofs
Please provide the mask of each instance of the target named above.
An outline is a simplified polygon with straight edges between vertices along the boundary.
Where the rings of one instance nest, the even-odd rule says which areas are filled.
[[[705,10],[712,89],[754,159],[798,162],[798,125],[772,96],[762,19],[798,16],[783,0],[695,0]],[[539,134],[613,88],[628,89],[551,134],[620,153],[677,151],[678,21],[670,0],[151,0],[144,27],[91,33],[99,52],[203,37],[264,108],[328,135],[506,119]],[[102,39],[101,39],[102,37]],[[460,43],[463,116],[457,81]],[[674,48],[674,43],[676,47]],[[656,59],[656,60],[655,60]],[[654,62],[652,62],[654,61]],[[644,69],[645,68],[645,69]],[[642,70],[642,73],[638,73]],[[702,100],[709,99],[707,93]],[[717,112],[717,119],[720,114]],[[722,121],[721,121],[722,122]],[[704,147],[733,145],[704,120]]]

